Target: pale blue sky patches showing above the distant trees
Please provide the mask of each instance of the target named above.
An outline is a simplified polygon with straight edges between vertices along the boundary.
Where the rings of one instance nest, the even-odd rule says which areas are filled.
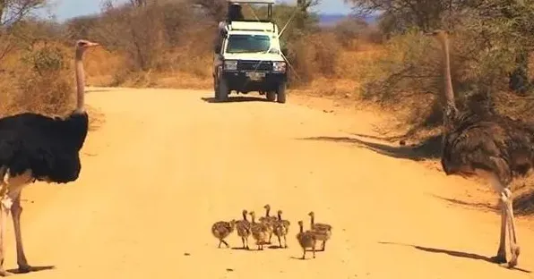
[[[100,10],[100,0],[53,0],[50,12],[56,14],[57,19],[62,21],[74,16],[98,13]],[[122,2],[122,1],[119,1]],[[295,0],[285,1],[288,3]],[[323,0],[323,4],[314,10],[320,13],[349,13],[350,8],[343,3],[343,0]]]

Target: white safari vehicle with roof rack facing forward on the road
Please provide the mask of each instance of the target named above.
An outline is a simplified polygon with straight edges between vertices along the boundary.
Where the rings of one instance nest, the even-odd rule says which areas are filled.
[[[281,54],[279,28],[272,21],[275,0],[228,0],[228,19],[220,22],[213,59],[215,98],[258,91],[270,101],[286,102],[287,68]],[[243,4],[267,4],[268,19],[245,20]]]

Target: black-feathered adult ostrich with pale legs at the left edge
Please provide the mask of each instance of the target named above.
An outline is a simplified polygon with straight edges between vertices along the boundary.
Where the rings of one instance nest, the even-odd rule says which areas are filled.
[[[78,178],[82,165],[78,152],[88,129],[84,109],[82,57],[89,47],[99,44],[87,40],[76,42],[75,71],[77,104],[65,119],[40,114],[16,114],[0,119],[0,276],[5,271],[4,243],[7,216],[13,216],[19,272],[32,270],[28,265],[21,235],[21,191],[31,182],[67,183]]]

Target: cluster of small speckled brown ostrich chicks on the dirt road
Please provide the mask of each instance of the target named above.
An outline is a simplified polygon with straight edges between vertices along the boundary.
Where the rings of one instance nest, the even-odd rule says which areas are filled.
[[[222,243],[229,247],[228,242],[225,239],[234,231],[237,231],[237,235],[243,242],[243,249],[249,249],[248,238],[252,235],[258,250],[263,250],[263,245],[271,244],[272,234],[278,238],[280,248],[288,248],[288,241],[286,235],[289,233],[288,220],[282,219],[282,211],[278,210],[277,216],[270,216],[270,205],[265,205],[265,216],[261,216],[256,222],[256,216],[254,211],[248,212],[243,209],[243,219],[230,221],[219,221],[211,226],[211,233],[215,238],[219,240],[219,248]],[[248,221],[247,215],[250,215],[252,222]],[[300,227],[297,233],[297,241],[303,250],[302,259],[306,258],[306,251],[311,249],[315,258],[315,245],[317,241],[323,241],[320,251],[325,249],[326,241],[330,240],[332,236],[332,225],[314,223],[314,212],[308,213],[310,216],[310,230],[304,231],[303,221],[298,221]],[[282,246],[281,238],[284,239],[284,245]]]

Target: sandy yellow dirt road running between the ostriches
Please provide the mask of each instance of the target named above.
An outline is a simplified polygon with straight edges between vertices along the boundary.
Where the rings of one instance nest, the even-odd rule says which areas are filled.
[[[211,93],[90,91],[88,102],[106,122],[90,132],[80,180],[38,183],[23,193],[30,264],[56,268],[19,276],[533,276],[526,272],[534,271],[529,220],[519,221],[522,271],[508,270],[487,262],[497,249],[499,217],[444,200],[477,193],[487,199],[487,190],[352,143],[306,139],[369,133],[372,114],[349,118],[291,100],[213,104],[201,97]],[[244,208],[263,215],[266,203],[291,221],[289,249],[217,249],[213,222],[239,218]],[[297,221],[307,225],[310,210],[316,222],[332,224],[332,241],[317,258],[298,260]],[[13,268],[9,235],[4,265]],[[236,234],[229,243],[241,245]]]

